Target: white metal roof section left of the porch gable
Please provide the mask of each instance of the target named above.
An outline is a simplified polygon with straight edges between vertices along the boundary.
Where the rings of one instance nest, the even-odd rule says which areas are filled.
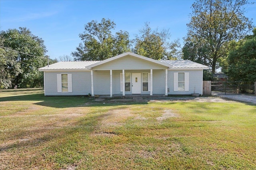
[[[49,67],[44,66],[39,68],[38,70],[81,70],[87,69],[87,66],[98,62],[100,61],[60,61],[58,63],[50,64]]]

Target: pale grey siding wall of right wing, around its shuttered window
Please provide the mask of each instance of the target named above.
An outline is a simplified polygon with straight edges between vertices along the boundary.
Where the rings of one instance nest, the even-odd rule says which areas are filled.
[[[189,91],[174,91],[174,72],[189,72]],[[168,94],[202,94],[202,70],[168,70]]]

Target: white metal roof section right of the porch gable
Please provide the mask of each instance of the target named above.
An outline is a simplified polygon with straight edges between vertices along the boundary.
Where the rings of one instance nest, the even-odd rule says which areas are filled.
[[[162,60],[161,62],[170,64],[170,69],[173,68],[200,68],[200,69],[208,69],[208,66],[205,66],[203,64],[199,64],[190,60]]]

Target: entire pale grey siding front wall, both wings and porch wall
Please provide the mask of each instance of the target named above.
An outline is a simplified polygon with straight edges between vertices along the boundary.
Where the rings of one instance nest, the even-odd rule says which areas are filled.
[[[145,70],[125,70],[126,73],[150,73],[150,69]],[[189,91],[174,91],[174,72],[189,72]],[[120,91],[120,73],[122,70],[112,71],[112,94],[122,95]],[[57,74],[72,74],[72,92],[57,92]],[[69,71],[69,72],[45,72],[45,96],[69,96],[88,95],[91,91],[90,71]],[[167,76],[168,94],[202,94],[202,70],[168,70]],[[165,69],[153,69],[152,94],[165,94]],[[93,71],[93,84],[95,95],[110,95],[110,70]],[[132,94],[125,92],[125,94]],[[141,94],[150,94],[142,92]]]

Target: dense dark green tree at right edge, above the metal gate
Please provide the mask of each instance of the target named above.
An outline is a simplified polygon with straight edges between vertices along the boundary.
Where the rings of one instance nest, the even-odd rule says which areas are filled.
[[[226,74],[233,81],[256,80],[256,28],[253,35],[236,42],[234,50],[229,52]]]

